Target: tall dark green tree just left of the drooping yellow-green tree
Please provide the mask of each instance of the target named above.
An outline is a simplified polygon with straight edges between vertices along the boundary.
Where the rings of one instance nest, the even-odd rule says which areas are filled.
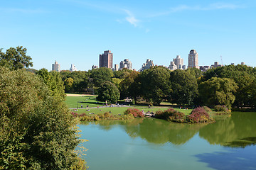
[[[178,105],[193,105],[194,99],[198,96],[198,84],[196,77],[191,72],[176,69],[171,72],[171,103]]]

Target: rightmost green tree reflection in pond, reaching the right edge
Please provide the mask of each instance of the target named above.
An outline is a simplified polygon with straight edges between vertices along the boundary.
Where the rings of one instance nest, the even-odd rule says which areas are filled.
[[[233,113],[229,118],[218,120],[199,130],[200,137],[210,144],[225,147],[255,145],[256,113]]]

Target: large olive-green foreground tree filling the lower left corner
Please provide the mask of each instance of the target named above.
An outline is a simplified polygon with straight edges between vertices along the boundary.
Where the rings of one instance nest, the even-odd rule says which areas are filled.
[[[0,67],[0,169],[82,169],[76,121],[42,79]]]

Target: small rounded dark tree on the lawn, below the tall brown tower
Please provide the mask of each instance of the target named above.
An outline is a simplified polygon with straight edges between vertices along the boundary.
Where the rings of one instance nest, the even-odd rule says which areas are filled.
[[[105,81],[100,84],[99,89],[97,89],[97,101],[108,101],[110,103],[115,103],[120,97],[119,90],[117,86],[112,84],[110,81]]]

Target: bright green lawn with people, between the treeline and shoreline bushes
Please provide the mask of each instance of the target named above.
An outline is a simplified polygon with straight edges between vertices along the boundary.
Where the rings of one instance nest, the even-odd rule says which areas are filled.
[[[110,112],[114,115],[117,114],[124,114],[124,111],[127,110],[127,108],[137,108],[140,111],[144,112],[156,112],[156,111],[165,111],[170,107],[166,106],[154,106],[149,108],[148,106],[131,106],[131,107],[122,107],[121,105],[119,107],[110,107],[110,106],[103,106],[102,102],[97,103],[96,101],[96,96],[67,96],[65,103],[67,103],[68,108],[79,108],[78,111],[75,111],[77,113],[105,113],[105,112]],[[81,108],[81,105],[83,108]],[[88,106],[88,109],[90,111],[87,111],[86,107]],[[100,106],[102,108],[97,108],[97,106]],[[174,108],[176,111],[180,111],[182,113],[185,113],[185,115],[188,115],[191,113],[192,109],[179,109],[179,108]]]

